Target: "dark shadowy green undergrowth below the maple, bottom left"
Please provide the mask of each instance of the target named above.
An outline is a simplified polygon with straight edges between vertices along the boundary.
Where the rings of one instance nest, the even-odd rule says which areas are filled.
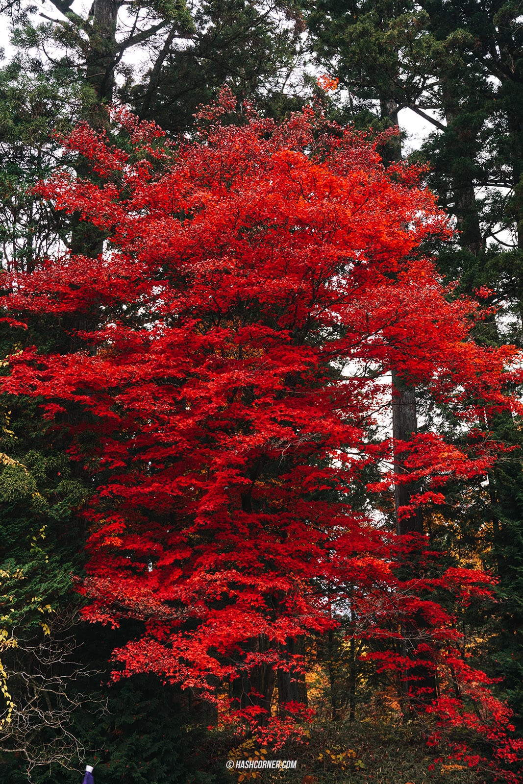
[[[96,642],[96,641],[95,641]],[[89,651],[92,654],[93,649]],[[85,657],[86,652],[83,652]],[[96,660],[96,657],[95,657]],[[74,714],[74,732],[85,746],[85,762],[94,764],[96,782],[101,784],[225,784],[230,781],[224,765],[227,757],[216,758],[202,724],[195,724],[180,691],[154,677],[133,677],[112,686],[102,686],[107,670],[89,679],[93,699],[104,694],[104,712],[86,705]],[[97,681],[97,683],[96,683]],[[82,684],[85,685],[85,684]],[[221,746],[216,752],[222,752]],[[55,764],[32,773],[35,784],[78,784],[82,761],[72,769]],[[2,764],[3,763],[3,764]],[[27,766],[16,757],[0,758],[2,781],[27,782]]]

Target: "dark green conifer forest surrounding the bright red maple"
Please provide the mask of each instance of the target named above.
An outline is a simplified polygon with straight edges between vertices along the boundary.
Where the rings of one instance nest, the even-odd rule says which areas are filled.
[[[423,176],[458,230],[430,247],[441,278],[458,281],[456,299],[484,292],[488,316],[474,328],[480,346],[521,347],[520,11],[517,2],[475,0],[7,3],[2,19],[9,56],[0,71],[2,267],[31,274],[59,247],[96,256],[99,234],[54,209],[34,186],[64,160],[56,133],[71,132],[79,121],[111,132],[108,104],[158,123],[175,141],[180,134],[191,138],[198,107],[215,100],[224,84],[237,99],[229,122],[239,124],[245,100],[277,120],[312,102],[330,121],[371,129],[372,137],[398,125],[398,113],[409,109],[431,129],[410,159],[429,162]],[[325,90],[318,73],[337,86]],[[405,157],[408,142],[402,152],[401,141],[387,137],[380,147],[384,160]],[[82,160],[77,172],[91,173]],[[45,319],[39,329],[39,347],[48,350],[55,336]],[[0,339],[4,357],[22,347],[6,322]],[[441,412],[423,399],[415,402],[414,391],[401,385],[398,394],[411,412],[417,405],[421,430],[441,428]],[[38,401],[5,395],[0,417],[2,781],[16,784],[31,775],[35,782],[74,782],[83,760],[95,760],[96,780],[103,782],[231,781],[225,760],[263,756],[263,744],[218,728],[197,694],[163,684],[158,675],[109,684],[111,652],[140,633],[140,622],[111,629],[78,617],[82,597],[74,579],[82,575],[88,536],[80,510],[92,479],[71,461]],[[424,530],[430,547],[454,566],[496,578],[492,599],[463,606],[460,647],[493,679],[492,691],[514,711],[521,735],[521,423],[503,413],[485,430],[509,449],[488,475],[446,485],[445,503],[424,512]],[[450,426],[448,432],[452,436]],[[452,437],[458,443],[461,434]],[[395,526],[394,493],[379,506]],[[304,774],[332,782],[489,780],[486,769],[442,758],[427,746],[424,719],[401,713],[387,673],[369,671],[345,623],[300,641],[306,680],[284,677],[274,691],[276,702],[285,702],[286,684],[291,700],[307,699],[315,711],[301,743],[289,741],[278,751],[302,760],[296,781]],[[453,742],[463,740],[468,735],[458,733]],[[477,751],[492,753],[485,743]],[[516,767],[512,774],[518,776]]]

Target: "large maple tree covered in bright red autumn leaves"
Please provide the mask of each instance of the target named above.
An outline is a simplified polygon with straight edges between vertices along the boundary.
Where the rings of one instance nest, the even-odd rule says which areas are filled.
[[[125,113],[125,143],[75,129],[65,146],[96,183],[64,170],[40,191],[98,227],[104,254],[4,282],[5,318],[29,330],[2,387],[43,399],[93,485],[85,617],[143,622],[114,653],[115,677],[152,671],[211,700],[229,683],[266,732],[277,673],[303,669],[291,643],[332,627],[332,597],[356,608],[354,633],[380,641],[376,666],[452,666],[486,704],[488,679],[459,659],[437,597],[481,593],[488,575],[420,568],[426,539],[398,537],[350,498],[372,466],[369,495],[416,482],[417,506],[440,503],[449,478],[485,474],[496,445],[480,423],[515,405],[515,350],[474,343],[478,304],[452,299],[423,255],[449,227],[415,168],[384,167],[375,142],[311,110],[227,125],[230,102],[224,92],[178,146]],[[64,338],[54,353],[31,347],[42,314]],[[401,445],[409,474],[387,470],[394,445],[369,430],[383,430],[392,368],[452,405],[466,451],[419,434]],[[406,622],[423,630],[414,659],[394,648]],[[463,718],[452,699],[430,710]],[[514,753],[494,702],[484,735]]]

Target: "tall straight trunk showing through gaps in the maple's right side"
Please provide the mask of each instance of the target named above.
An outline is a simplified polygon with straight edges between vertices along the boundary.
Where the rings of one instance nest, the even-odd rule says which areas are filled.
[[[398,104],[387,97],[380,98],[380,112],[382,118],[387,118],[392,125],[398,125]],[[399,140],[390,142],[383,152],[386,163],[401,160],[401,143]],[[416,390],[402,379],[398,372],[392,368],[392,437],[394,442],[410,441],[413,434],[417,433],[418,422],[416,412]],[[405,452],[394,453],[394,473],[404,475],[408,473],[405,467]],[[416,485],[394,485],[394,506],[396,509],[396,531],[398,535],[423,534],[423,515],[419,508],[414,514],[405,517],[400,514],[402,506],[410,506],[412,495],[417,492]],[[416,554],[411,555],[409,564],[405,564],[409,576],[416,575],[418,566]],[[405,575],[407,576],[407,575]],[[417,648],[424,641],[423,627],[426,626],[423,615],[412,619],[412,622],[403,624],[401,629],[401,655],[406,659],[415,661],[419,657]],[[427,657],[427,653],[423,656]],[[419,695],[416,692],[419,691]],[[412,665],[409,670],[400,676],[400,699],[404,713],[411,713],[416,703],[430,702],[436,695],[436,679],[434,670],[421,663]],[[416,696],[415,696],[416,695]]]

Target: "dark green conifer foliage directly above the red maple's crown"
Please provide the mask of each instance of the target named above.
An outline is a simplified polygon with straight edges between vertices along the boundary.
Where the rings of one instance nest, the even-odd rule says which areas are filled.
[[[196,7],[193,25],[186,45],[173,45],[162,63],[160,53],[143,82],[127,85],[141,117],[172,133],[185,131],[225,83],[238,96],[240,112],[245,99],[273,116],[300,106],[293,85],[300,74],[292,73],[300,56],[300,14],[252,0],[211,0]]]

